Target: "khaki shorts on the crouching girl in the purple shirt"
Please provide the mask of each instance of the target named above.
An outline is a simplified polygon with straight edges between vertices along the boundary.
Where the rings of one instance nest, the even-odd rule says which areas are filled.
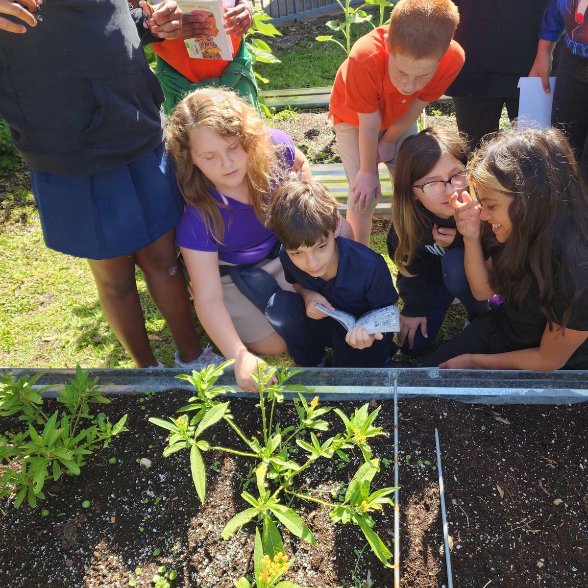
[[[264,259],[256,264],[256,268],[265,269],[276,279],[283,290],[294,292],[292,284],[286,282],[279,258]],[[222,276],[220,282],[222,283],[226,309],[243,343],[255,343],[275,333],[266,316],[242,295],[230,276]]]

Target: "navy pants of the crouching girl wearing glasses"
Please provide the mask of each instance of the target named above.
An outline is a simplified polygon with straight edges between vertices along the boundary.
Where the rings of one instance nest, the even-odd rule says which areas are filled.
[[[463,266],[464,250],[462,248],[449,249],[441,258],[443,279],[437,279],[431,284],[431,290],[436,292],[427,312],[427,335],[425,339],[420,327],[415,333],[415,342],[409,348],[408,339],[401,350],[406,355],[421,355],[435,341],[437,333],[453,299],[459,298],[467,310],[467,320],[472,322],[476,316],[482,315],[488,309],[486,300],[476,300],[467,283],[466,270]]]

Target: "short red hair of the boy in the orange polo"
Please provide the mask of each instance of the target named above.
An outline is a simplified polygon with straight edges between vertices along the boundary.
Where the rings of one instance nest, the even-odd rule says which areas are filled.
[[[458,24],[451,0],[400,0],[390,15],[386,46],[392,54],[441,59]]]

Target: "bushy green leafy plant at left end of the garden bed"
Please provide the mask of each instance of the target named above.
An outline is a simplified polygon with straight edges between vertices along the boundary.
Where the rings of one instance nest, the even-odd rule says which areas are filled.
[[[56,390],[63,410],[52,415],[43,409],[42,394],[54,386],[35,387],[42,373],[15,380],[0,378],[0,416],[18,415],[23,427],[0,435],[0,496],[16,493],[14,506],[23,500],[34,508],[44,499],[46,480],[57,482],[62,475],[79,475],[85,458],[99,447],[108,447],[112,437],[126,431],[127,415],[112,425],[104,413],[89,414],[91,404],[109,404],[100,392],[98,377],[76,366],[75,379]]]

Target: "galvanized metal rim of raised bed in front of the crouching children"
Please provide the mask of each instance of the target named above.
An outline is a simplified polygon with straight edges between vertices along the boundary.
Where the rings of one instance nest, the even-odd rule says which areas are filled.
[[[62,385],[75,377],[73,369],[0,368],[14,377],[39,372],[36,386]],[[102,392],[129,394],[192,389],[175,376],[180,369],[91,369],[90,377],[99,377]],[[314,389],[322,400],[392,400],[394,382],[400,399],[435,396],[447,400],[478,404],[569,404],[588,400],[588,371],[521,372],[516,370],[439,370],[430,368],[343,369],[309,368],[289,383]],[[218,385],[232,386],[235,396],[251,396],[235,385],[231,369],[219,377]],[[46,396],[55,394],[49,392]],[[295,396],[286,393],[286,398]]]

